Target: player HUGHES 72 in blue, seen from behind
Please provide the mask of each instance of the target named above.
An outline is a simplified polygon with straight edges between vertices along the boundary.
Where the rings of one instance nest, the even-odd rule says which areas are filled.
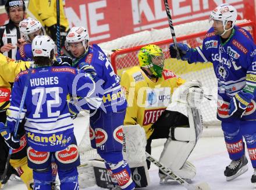
[[[94,96],[98,88],[91,75],[71,67],[51,67],[55,48],[49,36],[36,36],[32,42],[35,67],[21,116],[21,120],[26,116],[28,165],[33,169],[34,189],[51,189],[52,156],[58,165],[61,189],[79,189],[77,166],[80,159],[66,96],[75,94],[88,102],[100,96]],[[15,127],[27,73],[20,72],[13,85],[8,127],[0,125],[2,136],[12,148],[19,146],[10,134]],[[90,109],[88,105],[86,108]]]

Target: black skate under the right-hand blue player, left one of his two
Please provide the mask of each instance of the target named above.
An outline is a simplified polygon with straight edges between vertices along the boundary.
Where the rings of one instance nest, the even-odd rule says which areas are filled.
[[[248,160],[246,158],[246,155],[243,155],[243,157],[239,160],[232,160],[232,162],[229,164],[229,166],[226,167],[226,170],[224,171],[226,180],[227,181],[233,180],[234,178],[246,172],[248,170],[247,163],[248,163]],[[256,180],[256,176],[255,176],[255,180]]]

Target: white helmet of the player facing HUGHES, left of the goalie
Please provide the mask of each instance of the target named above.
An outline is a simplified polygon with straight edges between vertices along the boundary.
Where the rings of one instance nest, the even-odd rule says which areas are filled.
[[[89,34],[86,28],[84,27],[72,27],[67,33],[65,46],[67,50],[70,50],[69,43],[82,42],[82,45],[86,49],[86,52],[89,48]]]

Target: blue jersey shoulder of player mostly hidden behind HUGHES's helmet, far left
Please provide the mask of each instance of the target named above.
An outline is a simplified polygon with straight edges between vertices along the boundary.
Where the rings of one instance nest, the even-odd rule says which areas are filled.
[[[20,46],[16,53],[16,60],[33,61],[31,43]]]

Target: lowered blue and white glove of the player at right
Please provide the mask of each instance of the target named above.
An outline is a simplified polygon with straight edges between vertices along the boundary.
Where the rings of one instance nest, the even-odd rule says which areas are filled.
[[[253,97],[253,94],[243,92],[243,90],[234,95],[230,100],[229,115],[241,118],[244,115],[244,112],[246,112],[246,108],[251,103]]]

